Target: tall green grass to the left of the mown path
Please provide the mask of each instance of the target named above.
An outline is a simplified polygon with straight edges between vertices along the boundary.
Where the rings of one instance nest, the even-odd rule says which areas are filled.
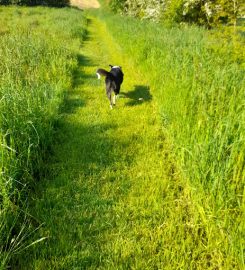
[[[0,8],[0,268],[27,237],[27,188],[44,170],[86,21],[72,9]],[[27,224],[26,227],[29,225]],[[25,237],[23,237],[25,235]],[[18,240],[18,241],[17,241]],[[21,243],[20,243],[21,242]]]

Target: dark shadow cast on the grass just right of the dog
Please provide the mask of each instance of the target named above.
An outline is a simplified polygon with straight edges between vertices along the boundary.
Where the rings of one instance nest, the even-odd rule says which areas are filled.
[[[135,85],[133,91],[127,93],[122,92],[121,94],[124,95],[125,98],[130,99],[126,103],[126,106],[137,106],[152,100],[150,88],[146,85]]]

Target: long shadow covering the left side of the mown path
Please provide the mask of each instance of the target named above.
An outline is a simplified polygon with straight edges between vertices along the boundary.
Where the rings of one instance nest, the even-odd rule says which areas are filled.
[[[47,239],[20,253],[11,269],[34,269],[34,265],[36,269],[97,269],[109,255],[102,247],[117,226],[113,207],[130,189],[122,166],[126,170],[134,162],[135,152],[128,148],[137,138],[114,138],[117,125],[91,118],[86,111],[89,97],[79,86],[91,79],[82,66],[94,63],[79,59],[81,71],[74,74],[77,89],[66,93],[60,108],[63,116],[55,125],[46,177],[37,183],[30,207],[43,224],[30,241]],[[75,114],[78,108],[85,117],[82,111]]]

